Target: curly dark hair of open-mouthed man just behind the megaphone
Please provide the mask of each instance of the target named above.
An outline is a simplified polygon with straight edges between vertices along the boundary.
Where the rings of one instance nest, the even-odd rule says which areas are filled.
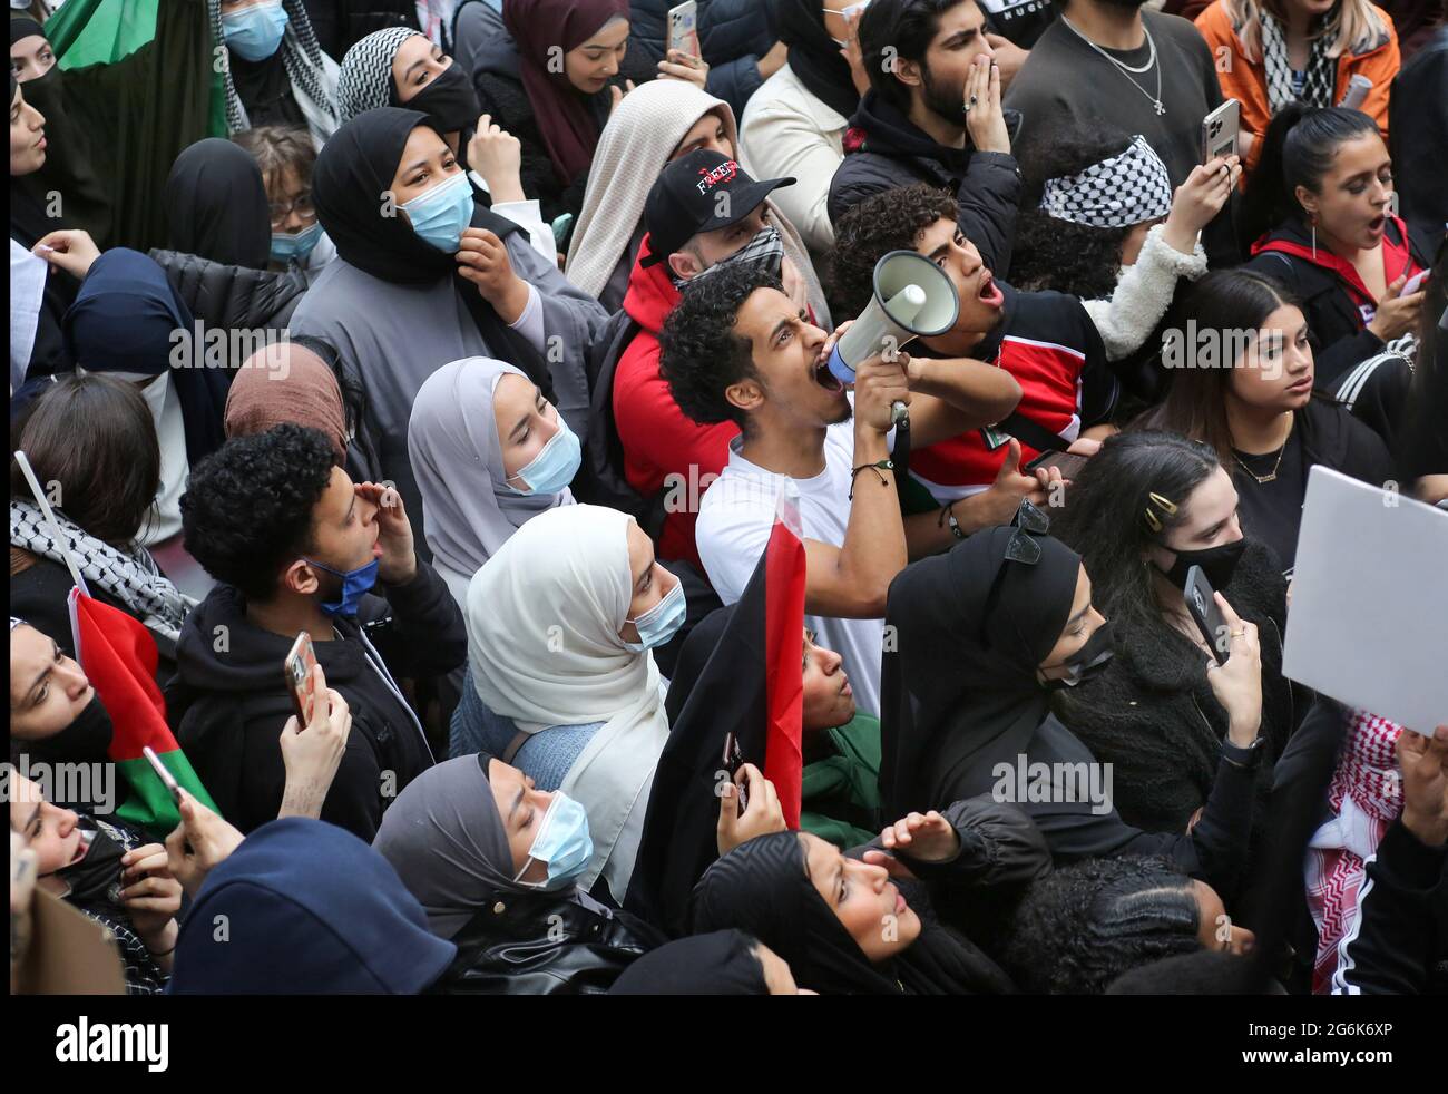
[[[851,206],[834,225],[827,274],[830,312],[854,319],[875,293],[875,264],[891,251],[914,251],[919,233],[956,219],[956,199],[928,183],[896,187]]]

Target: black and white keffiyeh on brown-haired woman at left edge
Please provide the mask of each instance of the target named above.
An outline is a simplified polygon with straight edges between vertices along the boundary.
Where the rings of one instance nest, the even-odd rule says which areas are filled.
[[[55,523],[88,585],[106,590],[155,633],[171,642],[181,638],[181,623],[195,601],[171,584],[149,551],[138,548],[132,555],[113,548],[61,513],[55,513]],[[45,517],[29,501],[10,500],[10,546],[65,565],[65,554],[51,536]],[[14,629],[13,622],[10,626]]]

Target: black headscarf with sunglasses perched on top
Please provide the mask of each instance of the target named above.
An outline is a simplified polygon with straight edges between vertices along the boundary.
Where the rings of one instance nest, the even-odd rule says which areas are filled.
[[[1080,556],[1057,539],[1032,536],[1040,561],[1008,562],[1016,532],[977,532],[891,583],[885,620],[896,642],[880,667],[888,816],[989,793],[995,765],[1015,765],[1050,716],[1035,671],[1070,619]],[[986,623],[988,646],[980,620],[1001,567],[1008,572]]]

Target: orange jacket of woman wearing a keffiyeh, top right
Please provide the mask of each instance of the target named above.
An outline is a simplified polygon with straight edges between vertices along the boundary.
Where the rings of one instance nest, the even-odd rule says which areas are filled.
[[[1347,94],[1348,81],[1354,75],[1365,75],[1373,81],[1373,87],[1358,110],[1377,122],[1377,128],[1383,130],[1383,139],[1387,141],[1387,93],[1399,67],[1397,30],[1387,12],[1377,6],[1373,10],[1383,20],[1387,33],[1368,42],[1355,42],[1354,46],[1361,46],[1363,52],[1352,52],[1352,46],[1342,51],[1338,57],[1338,83],[1332,101],[1337,103]],[[1232,26],[1225,0],[1216,0],[1202,12],[1196,17],[1196,29],[1202,32],[1202,38],[1206,39],[1206,45],[1212,51],[1212,59],[1216,62],[1216,78],[1222,84],[1222,96],[1242,104],[1241,128],[1255,138],[1251,152],[1247,154],[1247,171],[1251,171],[1257,167],[1263,135],[1267,132],[1267,123],[1271,122],[1271,110],[1267,106],[1266,67],[1261,61],[1255,64],[1248,61],[1242,54],[1242,43],[1237,38],[1237,29]]]

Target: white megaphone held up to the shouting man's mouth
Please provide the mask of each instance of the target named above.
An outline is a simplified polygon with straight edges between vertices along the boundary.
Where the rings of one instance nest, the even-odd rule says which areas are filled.
[[[891,251],[875,264],[875,296],[830,354],[830,371],[854,383],[854,367],[915,338],[943,335],[960,316],[960,297],[946,272],[914,251]],[[896,403],[895,420],[905,416]]]

